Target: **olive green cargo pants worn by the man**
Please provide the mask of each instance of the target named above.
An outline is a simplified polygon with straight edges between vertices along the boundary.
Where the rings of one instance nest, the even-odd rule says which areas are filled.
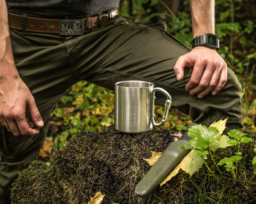
[[[172,107],[189,114],[194,122],[210,125],[229,117],[229,129],[241,128],[241,87],[233,71],[229,69],[228,82],[216,96],[209,94],[199,99],[189,95],[185,85],[193,69],[185,69],[181,82],[173,70],[177,58],[189,49],[162,27],[163,23],[150,27],[129,24],[115,16],[104,27],[82,36],[11,29],[16,67],[35,97],[45,125],[33,137],[14,137],[0,127],[0,203],[9,203],[6,198],[18,171],[36,159],[60,96],[80,80],[110,90],[121,80],[152,82],[167,90],[172,96]],[[159,96],[155,103],[164,105],[165,101],[165,96]]]

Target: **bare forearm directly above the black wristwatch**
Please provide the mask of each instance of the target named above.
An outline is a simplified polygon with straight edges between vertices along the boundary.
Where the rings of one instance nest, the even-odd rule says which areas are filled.
[[[214,0],[190,0],[193,37],[214,33]]]

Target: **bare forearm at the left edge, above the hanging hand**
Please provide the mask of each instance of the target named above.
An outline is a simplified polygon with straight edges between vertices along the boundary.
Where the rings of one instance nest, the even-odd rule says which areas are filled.
[[[16,78],[16,70],[8,25],[7,6],[5,0],[0,0],[0,78]]]

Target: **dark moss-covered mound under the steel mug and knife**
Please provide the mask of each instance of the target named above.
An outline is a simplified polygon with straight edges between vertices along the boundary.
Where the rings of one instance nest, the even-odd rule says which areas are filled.
[[[247,130],[246,130],[247,131]],[[243,177],[253,175],[255,133],[247,131],[254,142],[243,147]],[[205,168],[191,178],[180,172],[147,197],[134,194],[142,176],[150,169],[143,158],[150,151],[163,152],[174,141],[176,133],[151,130],[141,134],[125,134],[111,126],[104,133],[82,132],[64,150],[52,154],[52,166],[34,162],[19,173],[14,182],[13,203],[88,203],[97,192],[105,194],[102,203],[255,203],[255,177],[247,182],[221,178],[220,186]],[[224,158],[233,154],[233,147],[216,152]],[[220,167],[225,172],[224,167]],[[214,170],[214,169],[213,169]],[[240,171],[240,168],[238,169]],[[217,175],[218,176],[218,175]],[[240,177],[241,180],[241,177]],[[232,202],[230,202],[232,197]]]

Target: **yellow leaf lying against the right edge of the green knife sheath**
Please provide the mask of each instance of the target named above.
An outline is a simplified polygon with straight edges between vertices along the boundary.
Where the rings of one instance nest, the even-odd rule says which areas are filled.
[[[195,154],[194,150],[191,150],[187,156],[181,160],[179,165],[177,165],[173,171],[164,179],[160,186],[166,184],[167,181],[170,181],[172,177],[176,176],[177,173],[179,173],[180,169],[185,171],[186,173],[189,173],[190,176],[193,175],[193,173],[199,171],[199,169],[202,167],[204,161],[200,156],[197,156]]]

